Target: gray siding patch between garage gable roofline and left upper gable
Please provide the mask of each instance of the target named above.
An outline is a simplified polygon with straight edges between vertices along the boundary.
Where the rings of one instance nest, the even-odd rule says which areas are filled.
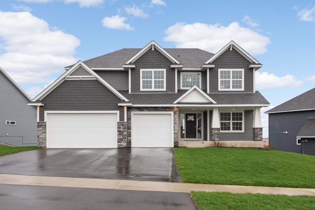
[[[128,71],[95,71],[116,90],[128,90]]]

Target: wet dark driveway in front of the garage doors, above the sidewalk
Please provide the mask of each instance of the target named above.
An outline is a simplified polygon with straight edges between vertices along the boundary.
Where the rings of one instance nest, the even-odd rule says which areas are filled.
[[[1,156],[0,174],[181,182],[172,148],[25,151]]]

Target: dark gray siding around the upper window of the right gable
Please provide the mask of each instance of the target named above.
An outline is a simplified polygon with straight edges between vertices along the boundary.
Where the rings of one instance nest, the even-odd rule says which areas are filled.
[[[221,68],[242,68],[244,69],[244,91],[231,92],[253,92],[253,70],[248,68],[250,61],[245,59],[236,50],[226,50],[219,58],[211,64],[215,64],[215,68],[210,69],[210,92],[222,92],[218,90],[218,69]],[[227,92],[227,91],[223,91]]]

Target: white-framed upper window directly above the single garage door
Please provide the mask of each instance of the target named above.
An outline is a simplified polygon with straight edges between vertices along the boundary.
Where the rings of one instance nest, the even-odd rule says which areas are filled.
[[[140,90],[166,90],[166,69],[140,69]]]

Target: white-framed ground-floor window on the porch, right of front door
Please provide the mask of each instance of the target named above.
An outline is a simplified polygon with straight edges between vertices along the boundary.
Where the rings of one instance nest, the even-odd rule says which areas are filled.
[[[222,132],[243,132],[243,112],[221,112],[220,129]]]

